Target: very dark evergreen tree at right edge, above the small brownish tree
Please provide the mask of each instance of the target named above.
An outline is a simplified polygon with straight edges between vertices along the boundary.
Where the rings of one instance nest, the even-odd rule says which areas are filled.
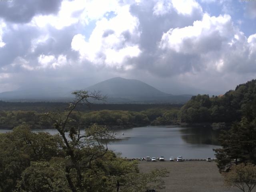
[[[228,131],[222,131],[219,136],[222,148],[214,149],[217,165],[220,170],[228,171],[232,164],[256,164],[256,122],[242,118],[241,122],[233,124]]]

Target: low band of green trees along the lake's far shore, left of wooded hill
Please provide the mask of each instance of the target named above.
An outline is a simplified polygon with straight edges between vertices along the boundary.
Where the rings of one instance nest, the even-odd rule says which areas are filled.
[[[65,114],[66,112],[62,112]],[[138,126],[168,125],[177,123],[178,110],[160,108],[142,112],[121,110],[99,110],[92,112],[74,111],[72,117],[81,125],[88,127],[94,123],[110,128],[130,128]],[[27,124],[33,129],[53,128],[51,122],[44,118],[44,113],[35,111],[0,111],[0,128],[12,129]]]

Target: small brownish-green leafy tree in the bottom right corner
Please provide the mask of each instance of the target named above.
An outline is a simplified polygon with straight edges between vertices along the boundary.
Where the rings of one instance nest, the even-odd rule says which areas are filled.
[[[256,186],[256,167],[253,164],[232,165],[230,172],[223,173],[225,185],[251,192]]]

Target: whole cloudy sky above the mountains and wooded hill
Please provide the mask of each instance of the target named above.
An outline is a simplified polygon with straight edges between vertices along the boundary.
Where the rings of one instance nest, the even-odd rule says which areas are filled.
[[[0,92],[114,77],[222,94],[256,77],[254,0],[0,0]]]

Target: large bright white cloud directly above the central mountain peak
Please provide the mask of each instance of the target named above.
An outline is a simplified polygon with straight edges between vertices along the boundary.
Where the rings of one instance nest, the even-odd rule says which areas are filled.
[[[81,59],[120,68],[126,58],[137,57],[141,52],[136,44],[140,37],[138,26],[138,18],[130,14],[129,6],[123,6],[115,17],[96,22],[88,41],[82,34],[75,35],[71,47]]]

